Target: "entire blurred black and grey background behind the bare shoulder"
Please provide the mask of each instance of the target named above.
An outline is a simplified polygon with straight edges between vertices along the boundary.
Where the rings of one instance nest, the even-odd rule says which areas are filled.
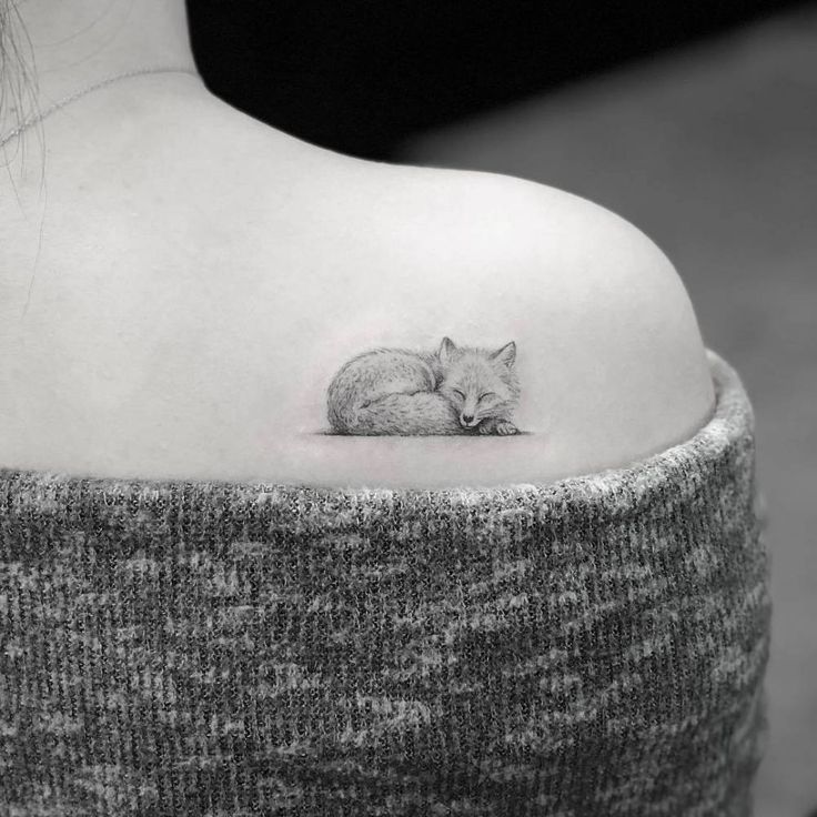
[[[189,6],[205,83],[256,119],[562,188],[673,260],[756,413],[774,613],[755,817],[817,815],[817,4]]]

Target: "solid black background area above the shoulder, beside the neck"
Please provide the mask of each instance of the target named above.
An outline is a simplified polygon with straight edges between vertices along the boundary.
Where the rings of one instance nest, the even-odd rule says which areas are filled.
[[[195,0],[209,89],[307,142],[389,160],[415,133],[663,49],[787,0]]]

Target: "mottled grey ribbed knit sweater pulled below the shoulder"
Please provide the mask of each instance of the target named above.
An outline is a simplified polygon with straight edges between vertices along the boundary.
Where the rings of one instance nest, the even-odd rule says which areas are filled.
[[[0,815],[746,817],[754,415],[551,485],[0,471]]]

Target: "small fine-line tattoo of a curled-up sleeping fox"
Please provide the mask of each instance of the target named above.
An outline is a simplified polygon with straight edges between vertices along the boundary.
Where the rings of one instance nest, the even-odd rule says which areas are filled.
[[[517,434],[515,360],[513,341],[496,351],[448,337],[436,352],[374,349],[333,377],[329,422],[339,434]]]

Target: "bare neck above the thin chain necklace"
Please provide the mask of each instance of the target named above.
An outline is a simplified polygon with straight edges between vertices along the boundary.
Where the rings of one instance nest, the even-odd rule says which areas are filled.
[[[17,0],[17,8],[41,108],[127,71],[195,70],[184,0]]]

